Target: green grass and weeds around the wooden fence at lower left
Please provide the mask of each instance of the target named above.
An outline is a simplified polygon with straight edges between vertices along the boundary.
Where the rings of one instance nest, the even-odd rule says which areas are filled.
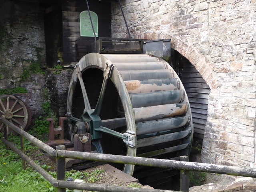
[[[2,137],[3,133],[0,132],[0,138]],[[8,140],[15,144],[17,148],[20,148],[19,136],[11,134],[8,136]],[[25,150],[29,151],[29,154],[37,150],[28,140],[25,139],[24,141]],[[5,145],[2,142],[0,142],[0,154],[0,192],[56,192],[56,188],[30,166],[26,166],[26,170],[23,170],[21,166],[21,158],[12,150],[6,150]],[[40,153],[39,155],[43,154]],[[50,166],[40,164],[39,162],[37,163],[56,178],[56,172],[50,171]],[[104,171],[105,170],[99,168],[96,168],[91,172],[70,170],[66,172],[66,178],[72,177],[74,180],[83,179],[86,182],[93,183],[101,179],[100,174]],[[73,190],[69,189],[66,190],[66,192],[72,191]]]

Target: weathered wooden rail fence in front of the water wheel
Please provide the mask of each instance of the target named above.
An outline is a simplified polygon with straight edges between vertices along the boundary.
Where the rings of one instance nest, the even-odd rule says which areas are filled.
[[[155,158],[143,158],[143,157],[133,157],[133,156],[120,156],[120,155],[110,155],[110,154],[96,154],[89,152],[77,152],[65,150],[65,146],[56,146],[56,150],[52,147],[46,145],[44,142],[38,140],[34,136],[28,134],[22,128],[18,128],[14,124],[8,122],[6,119],[0,117],[0,121],[5,124],[4,138],[2,142],[6,144],[6,148],[11,148],[16,152],[23,160],[25,160],[30,166],[32,166],[36,171],[38,171],[48,182],[50,182],[54,187],[57,188],[57,192],[65,192],[66,188],[70,189],[80,189],[80,190],[91,190],[91,191],[102,191],[102,192],[175,192],[172,190],[158,190],[158,189],[144,189],[144,188],[131,188],[123,186],[114,185],[104,185],[104,184],[91,184],[91,183],[78,183],[65,180],[65,158],[75,158],[82,160],[91,160],[98,162],[112,162],[121,164],[134,164],[141,166],[151,166],[159,168],[173,168],[181,170],[181,183],[180,190],[188,192],[189,191],[189,170],[210,172],[217,174],[228,174],[235,176],[246,176],[256,178],[256,169],[254,168],[241,168],[237,166],[223,166],[216,164],[205,164],[196,162],[187,162],[188,157],[182,156],[181,161],[176,160],[165,160],[165,159],[155,159]],[[8,141],[7,128],[12,128],[21,136],[21,149],[24,148],[24,142],[22,142],[23,137],[30,140],[36,146],[47,152],[50,156],[56,158],[57,163],[57,178],[53,178],[48,172],[43,168],[38,166],[33,160],[31,160],[24,151],[16,148],[12,143]]]

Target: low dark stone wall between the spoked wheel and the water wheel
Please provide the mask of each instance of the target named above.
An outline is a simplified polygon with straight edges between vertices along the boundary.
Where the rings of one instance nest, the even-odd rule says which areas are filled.
[[[20,86],[28,90],[27,93],[15,93],[28,106],[32,122],[42,116],[42,103],[50,101],[52,116],[59,118],[66,114],[66,103],[70,78],[73,70],[62,70],[60,74],[47,71],[46,74],[31,74],[29,82],[22,82]]]

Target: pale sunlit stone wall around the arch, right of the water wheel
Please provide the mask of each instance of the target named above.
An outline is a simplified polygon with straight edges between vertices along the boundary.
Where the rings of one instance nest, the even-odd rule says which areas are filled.
[[[171,38],[210,86],[202,162],[256,168],[256,0],[121,3],[132,38]],[[128,37],[117,3],[112,37]]]

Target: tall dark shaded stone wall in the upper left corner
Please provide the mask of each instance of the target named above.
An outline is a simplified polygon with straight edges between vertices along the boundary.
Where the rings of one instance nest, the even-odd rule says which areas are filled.
[[[0,88],[14,88],[31,63],[45,63],[44,9],[39,3],[4,0],[0,18]]]

